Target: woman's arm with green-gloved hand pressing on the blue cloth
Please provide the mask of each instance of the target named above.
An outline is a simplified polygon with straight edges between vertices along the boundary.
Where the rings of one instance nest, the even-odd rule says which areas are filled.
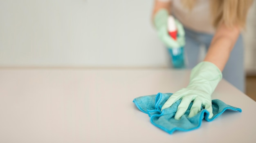
[[[204,106],[204,109],[209,112],[207,118],[212,118],[211,94],[222,79],[222,70],[239,33],[240,29],[238,27],[228,28],[225,24],[221,24],[211,41],[204,62],[200,62],[192,69],[189,85],[171,95],[161,110],[171,107],[177,100],[182,99],[174,119],[180,119],[191,102],[193,102],[193,105],[188,117],[197,115],[201,111],[201,107]]]

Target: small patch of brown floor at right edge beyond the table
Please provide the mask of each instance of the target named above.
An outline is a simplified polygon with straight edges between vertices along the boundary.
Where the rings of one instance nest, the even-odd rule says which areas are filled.
[[[246,77],[246,95],[256,101],[256,76]]]

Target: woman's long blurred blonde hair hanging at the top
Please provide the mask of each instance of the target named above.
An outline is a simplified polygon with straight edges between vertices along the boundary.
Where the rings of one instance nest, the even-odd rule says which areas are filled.
[[[253,0],[210,0],[212,24],[245,27],[247,12]],[[196,0],[182,0],[182,4],[192,10]]]

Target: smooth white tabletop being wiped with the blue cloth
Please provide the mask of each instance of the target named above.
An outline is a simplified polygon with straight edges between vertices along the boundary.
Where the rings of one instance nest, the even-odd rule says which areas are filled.
[[[256,142],[256,102],[222,80],[212,99],[227,111],[190,132],[170,135],[132,100],[173,93],[189,71],[171,69],[0,69],[0,143]]]

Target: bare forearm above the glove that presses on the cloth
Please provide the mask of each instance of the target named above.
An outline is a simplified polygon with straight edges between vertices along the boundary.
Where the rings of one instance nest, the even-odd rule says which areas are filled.
[[[240,28],[236,26],[229,28],[225,24],[220,24],[211,41],[204,61],[214,63],[220,71],[223,71],[239,34]]]

